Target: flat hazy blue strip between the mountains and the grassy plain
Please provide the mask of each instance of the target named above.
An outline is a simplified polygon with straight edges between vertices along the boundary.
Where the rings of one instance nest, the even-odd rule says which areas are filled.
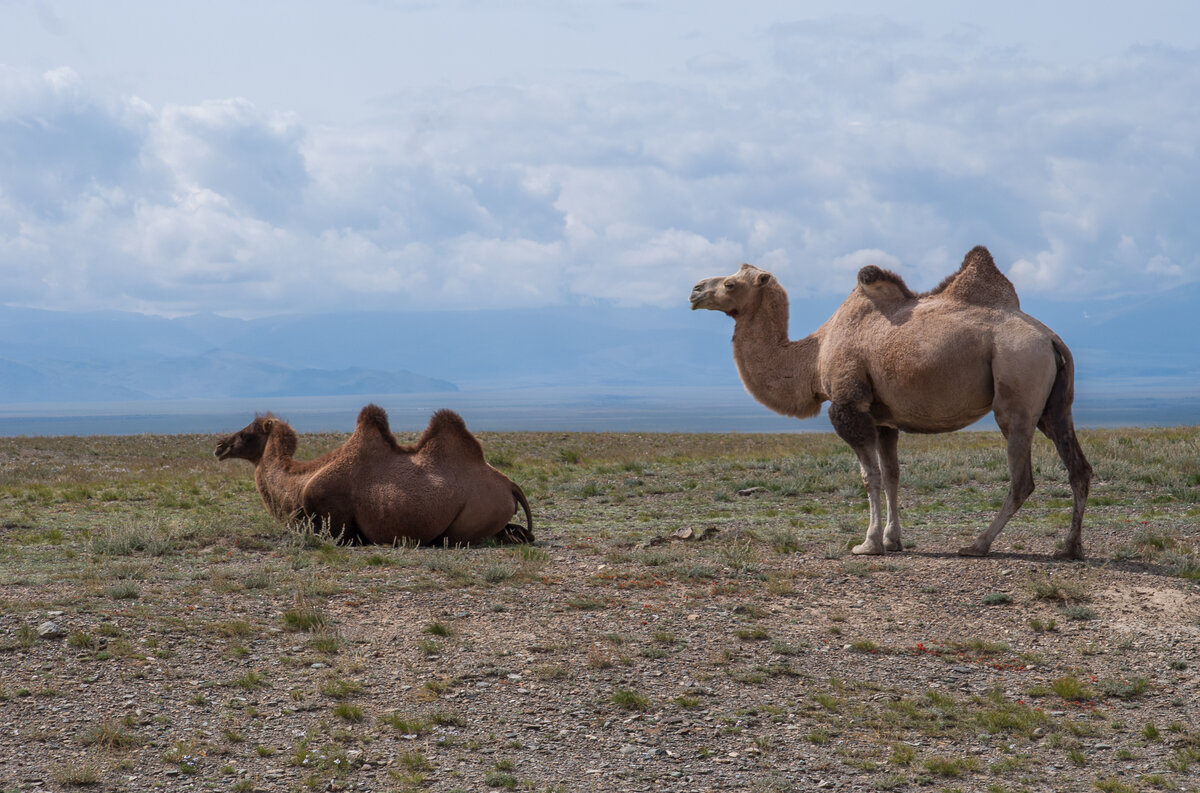
[[[439,408],[462,414],[475,431],[497,432],[829,432],[822,413],[797,421],[779,416],[739,388],[578,386],[336,397],[263,397],[72,404],[0,404],[0,437],[226,433],[268,410],[300,432],[349,432],[359,409],[374,402],[392,429],[425,428]],[[1200,423],[1200,391],[1190,388],[1106,390],[1081,385],[1080,427]],[[974,425],[994,429],[991,417]]]

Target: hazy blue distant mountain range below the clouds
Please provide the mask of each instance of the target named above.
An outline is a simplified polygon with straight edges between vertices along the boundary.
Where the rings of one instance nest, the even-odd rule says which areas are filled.
[[[793,300],[793,338],[838,302]],[[1200,284],[1022,306],[1070,346],[1081,391],[1200,394]],[[737,385],[732,330],[683,302],[253,320],[0,307],[0,403]]]

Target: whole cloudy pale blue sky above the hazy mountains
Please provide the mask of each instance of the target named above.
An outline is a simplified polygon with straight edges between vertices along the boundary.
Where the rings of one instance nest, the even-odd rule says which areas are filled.
[[[0,0],[0,304],[1092,305],[1200,281],[1198,144],[1189,0]]]

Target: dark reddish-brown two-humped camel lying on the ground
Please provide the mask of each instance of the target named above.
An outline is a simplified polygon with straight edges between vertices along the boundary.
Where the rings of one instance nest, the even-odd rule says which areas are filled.
[[[487,464],[479,440],[452,410],[436,413],[420,439],[402,446],[388,414],[368,404],[354,433],[334,451],[296,461],[295,449],[295,431],[266,415],[222,440],[214,453],[252,462],[263,503],[280,519],[312,519],[346,540],[533,542],[524,492]],[[518,507],[526,527],[508,523]]]

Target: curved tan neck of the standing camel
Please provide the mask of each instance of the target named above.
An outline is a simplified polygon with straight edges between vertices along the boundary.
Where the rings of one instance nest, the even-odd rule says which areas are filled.
[[[758,308],[738,317],[733,329],[733,361],[746,391],[775,413],[809,419],[821,410],[817,335],[787,338],[787,295],[763,294]]]

